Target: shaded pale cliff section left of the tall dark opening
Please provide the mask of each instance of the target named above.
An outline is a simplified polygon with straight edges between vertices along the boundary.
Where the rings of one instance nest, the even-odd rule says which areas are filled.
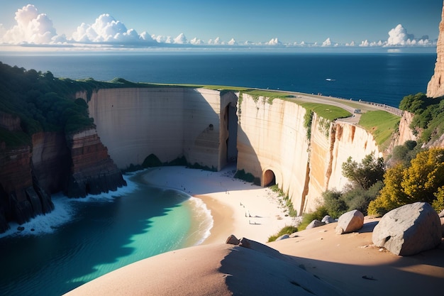
[[[77,97],[87,99],[86,93]],[[189,163],[220,169],[226,158],[226,106],[237,98],[209,89],[152,87],[99,89],[89,99],[101,141],[118,168],[185,156]]]

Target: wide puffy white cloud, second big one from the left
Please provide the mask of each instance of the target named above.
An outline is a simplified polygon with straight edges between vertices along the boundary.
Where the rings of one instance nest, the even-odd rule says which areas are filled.
[[[151,36],[134,29],[127,29],[121,21],[104,13],[92,25],[82,23],[72,33],[72,40],[78,43],[153,43]]]

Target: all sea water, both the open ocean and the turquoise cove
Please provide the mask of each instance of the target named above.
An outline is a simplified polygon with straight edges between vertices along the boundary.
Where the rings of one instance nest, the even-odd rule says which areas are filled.
[[[390,106],[426,92],[435,59],[430,53],[0,52],[0,62],[56,77],[280,89]],[[212,223],[200,199],[150,187],[141,175],[126,176],[128,187],[110,194],[55,194],[55,211],[21,234],[12,234],[18,225],[11,224],[0,235],[0,295],[60,295],[123,265],[199,244]]]

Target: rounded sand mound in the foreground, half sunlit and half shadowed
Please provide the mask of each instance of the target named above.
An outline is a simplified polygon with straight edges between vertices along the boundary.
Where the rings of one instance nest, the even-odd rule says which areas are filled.
[[[262,249],[262,248],[261,248]],[[216,243],[138,261],[67,295],[343,295],[270,249]]]

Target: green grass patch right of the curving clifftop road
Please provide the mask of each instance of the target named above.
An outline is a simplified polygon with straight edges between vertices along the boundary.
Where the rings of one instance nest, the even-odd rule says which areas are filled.
[[[361,115],[359,125],[373,135],[379,147],[384,148],[384,143],[389,141],[390,137],[399,126],[401,118],[387,111],[367,111]]]

